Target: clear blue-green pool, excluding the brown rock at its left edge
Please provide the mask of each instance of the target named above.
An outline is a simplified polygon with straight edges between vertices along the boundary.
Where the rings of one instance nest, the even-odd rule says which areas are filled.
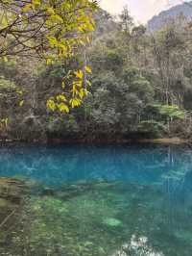
[[[33,188],[0,255],[192,255],[190,148],[4,146],[0,176]]]

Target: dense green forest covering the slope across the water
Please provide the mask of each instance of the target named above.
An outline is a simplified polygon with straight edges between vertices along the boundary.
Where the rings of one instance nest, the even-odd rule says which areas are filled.
[[[192,30],[188,19],[180,13],[151,33],[134,24],[127,8],[117,18],[101,9],[94,15],[91,41],[66,64],[47,65],[33,56],[1,60],[1,139],[190,139]],[[60,95],[63,76],[79,64],[91,67],[86,67],[88,92],[80,107],[74,104],[64,111],[52,99]],[[63,99],[57,100],[60,104]]]

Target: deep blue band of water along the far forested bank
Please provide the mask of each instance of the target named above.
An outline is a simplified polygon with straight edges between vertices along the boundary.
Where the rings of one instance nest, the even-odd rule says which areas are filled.
[[[166,183],[190,175],[192,151],[168,146],[10,146],[0,148],[0,175],[44,184],[90,180]]]

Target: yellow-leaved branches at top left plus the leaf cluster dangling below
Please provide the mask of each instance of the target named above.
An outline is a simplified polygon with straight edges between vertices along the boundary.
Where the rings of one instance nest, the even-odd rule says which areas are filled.
[[[96,9],[96,1],[89,0],[0,0],[0,58],[32,56],[46,64],[66,64],[89,42]],[[63,93],[47,106],[61,112],[79,106],[90,84],[86,72],[91,72],[86,64],[71,71],[70,86],[66,89],[63,79]]]

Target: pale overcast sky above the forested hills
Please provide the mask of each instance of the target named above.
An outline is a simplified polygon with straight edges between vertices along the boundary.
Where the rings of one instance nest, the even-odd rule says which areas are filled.
[[[99,0],[101,7],[109,13],[120,13],[124,6],[128,6],[130,13],[138,22],[146,23],[152,16],[183,0]]]

